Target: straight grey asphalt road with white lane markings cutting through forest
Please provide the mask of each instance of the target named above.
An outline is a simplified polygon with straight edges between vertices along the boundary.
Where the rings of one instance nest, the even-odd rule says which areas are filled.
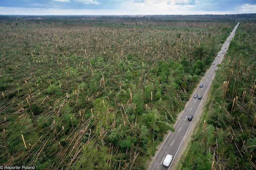
[[[240,22],[239,22],[240,23]],[[205,76],[201,79],[201,82],[203,86],[200,88],[198,85],[198,88],[195,90],[194,94],[198,94],[198,96],[202,96],[202,99],[190,98],[190,100],[187,102],[185,109],[182,111],[182,113],[179,115],[178,120],[174,124],[175,132],[169,132],[168,136],[164,139],[162,143],[160,143],[159,146],[160,149],[156,151],[155,157],[153,158],[149,170],[170,170],[170,169],[176,169],[177,164],[181,158],[181,155],[184,151],[184,148],[186,147],[191,134],[193,132],[193,129],[195,128],[195,125],[197,124],[201,113],[203,106],[207,100],[208,92],[211,87],[211,81],[214,78],[215,70],[217,69],[217,64],[221,63],[225,52],[227,51],[229,47],[229,41],[233,38],[233,35],[236,31],[236,28],[238,27],[239,23],[234,27],[232,33],[227,38],[223,46],[221,47],[221,53],[218,52],[214,62],[215,65],[211,65],[209,70],[206,72]],[[227,48],[227,49],[225,49]],[[224,54],[222,52],[224,51]],[[194,118],[192,121],[189,121],[187,118],[189,115],[194,115]],[[189,132],[189,133],[188,133]],[[169,167],[165,167],[163,165],[163,161],[167,154],[170,154],[173,156],[173,159],[169,165]]]

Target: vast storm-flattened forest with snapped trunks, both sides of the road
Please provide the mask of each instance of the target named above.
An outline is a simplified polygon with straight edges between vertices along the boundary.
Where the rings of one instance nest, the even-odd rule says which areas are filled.
[[[255,148],[248,146],[255,143],[254,19],[1,16],[0,163],[146,169],[219,47],[245,20],[226,56],[228,66],[213,84],[218,97],[208,104],[213,112],[207,133],[220,134],[219,147],[205,154],[212,161],[219,152],[219,166],[236,167],[233,160],[253,166]],[[227,152],[225,137],[231,158],[221,155]]]

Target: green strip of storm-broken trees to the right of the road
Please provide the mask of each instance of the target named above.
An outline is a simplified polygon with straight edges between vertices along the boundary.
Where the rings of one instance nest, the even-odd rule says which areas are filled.
[[[255,20],[241,21],[236,30],[183,157],[183,170],[256,169],[255,25]]]

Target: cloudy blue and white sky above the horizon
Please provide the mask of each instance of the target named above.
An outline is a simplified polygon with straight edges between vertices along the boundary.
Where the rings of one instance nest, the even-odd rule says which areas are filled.
[[[256,13],[256,0],[0,0],[0,15]]]

